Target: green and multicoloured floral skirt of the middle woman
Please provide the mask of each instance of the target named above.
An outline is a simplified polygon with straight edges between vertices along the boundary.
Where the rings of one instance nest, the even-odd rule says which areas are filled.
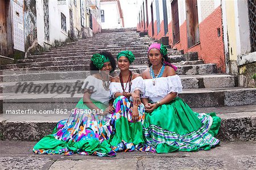
[[[111,125],[113,133],[109,143],[114,151],[139,150],[144,144],[142,124],[144,120],[144,105],[138,106],[139,119],[132,121],[133,102],[125,96],[119,96],[114,100],[114,113],[112,114]],[[150,151],[145,148],[144,151]]]

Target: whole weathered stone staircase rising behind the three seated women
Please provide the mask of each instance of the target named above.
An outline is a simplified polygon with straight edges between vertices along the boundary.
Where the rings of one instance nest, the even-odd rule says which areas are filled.
[[[69,111],[82,97],[82,93],[75,93],[72,87],[81,87],[90,74],[93,53],[107,50],[116,56],[126,49],[133,51],[136,59],[131,70],[141,73],[147,68],[147,48],[153,42],[155,40],[147,36],[140,37],[132,28],[102,30],[94,38],[53,47],[16,64],[1,65],[0,139],[39,140],[51,132],[57,121],[68,118]],[[218,138],[256,140],[256,89],[237,87],[236,77],[218,74],[216,64],[204,64],[196,52],[183,54],[168,49],[168,56],[178,67],[177,74],[183,84],[184,91],[179,96],[194,107],[193,110],[215,111],[223,119]],[[27,83],[24,93],[15,93],[23,83]],[[71,91],[43,90],[40,94],[33,91],[46,86],[54,86],[53,91],[69,86]],[[28,109],[50,110],[55,114],[6,114],[6,110]],[[62,109],[62,113],[57,114],[58,109]]]

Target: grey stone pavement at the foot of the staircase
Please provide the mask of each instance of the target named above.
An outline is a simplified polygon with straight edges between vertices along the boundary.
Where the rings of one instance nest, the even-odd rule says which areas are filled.
[[[116,157],[35,155],[35,142],[0,142],[0,169],[256,169],[256,141],[222,142],[210,151]]]

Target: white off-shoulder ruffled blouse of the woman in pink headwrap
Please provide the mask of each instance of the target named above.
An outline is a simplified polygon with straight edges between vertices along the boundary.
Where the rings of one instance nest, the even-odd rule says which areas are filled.
[[[155,85],[153,85],[154,80]],[[148,98],[152,102],[160,101],[171,92],[182,92],[182,84],[178,75],[159,77],[155,79],[144,79],[143,82],[144,90],[142,98]]]

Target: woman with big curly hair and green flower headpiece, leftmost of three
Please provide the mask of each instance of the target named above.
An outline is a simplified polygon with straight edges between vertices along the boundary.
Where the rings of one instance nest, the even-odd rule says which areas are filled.
[[[90,60],[91,75],[82,85],[84,97],[68,119],[36,143],[35,154],[115,156],[108,143],[113,110],[109,105],[109,73],[115,69],[115,60],[109,52],[96,53]]]

